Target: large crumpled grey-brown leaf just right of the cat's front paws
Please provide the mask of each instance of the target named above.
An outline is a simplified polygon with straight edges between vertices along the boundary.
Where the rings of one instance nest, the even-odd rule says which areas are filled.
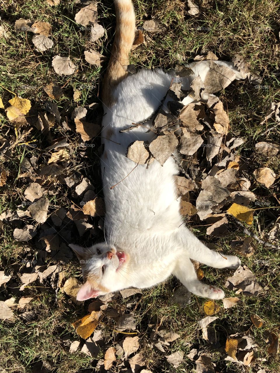
[[[246,266],[240,266],[232,277],[227,279],[225,287],[230,290],[237,290],[236,294],[242,293],[247,297],[257,297],[262,291],[256,281],[256,276]]]

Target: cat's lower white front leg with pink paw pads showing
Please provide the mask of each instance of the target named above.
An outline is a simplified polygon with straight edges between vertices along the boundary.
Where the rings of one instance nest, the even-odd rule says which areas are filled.
[[[214,285],[206,285],[197,279],[195,268],[187,257],[179,258],[172,274],[193,294],[203,298],[222,299],[225,294],[222,289]]]

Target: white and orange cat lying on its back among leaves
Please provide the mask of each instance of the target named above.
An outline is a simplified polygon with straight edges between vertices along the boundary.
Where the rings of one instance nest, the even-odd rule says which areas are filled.
[[[203,81],[209,61],[188,65],[193,75],[187,78],[176,78],[174,72],[161,69],[128,75],[126,68],[135,35],[133,4],[131,0],[115,0],[115,9],[116,34],[102,93],[105,115],[101,170],[107,239],[88,248],[70,245],[80,260],[85,281],[77,300],[130,287],[149,288],[170,275],[176,276],[193,294],[221,299],[223,290],[197,279],[191,259],[215,268],[237,268],[240,259],[209,250],[186,228],[174,181],[179,170],[172,157],[163,166],[155,160],[149,168],[126,157],[131,142],[151,142],[154,132],[143,126],[119,132],[149,118],[158,109],[172,79],[183,82],[184,89],[189,89],[198,75]],[[214,63],[230,67],[235,79],[245,78],[232,63]],[[203,98],[207,99],[207,95]],[[192,100],[187,97],[187,103]],[[165,105],[164,108],[168,111]]]

